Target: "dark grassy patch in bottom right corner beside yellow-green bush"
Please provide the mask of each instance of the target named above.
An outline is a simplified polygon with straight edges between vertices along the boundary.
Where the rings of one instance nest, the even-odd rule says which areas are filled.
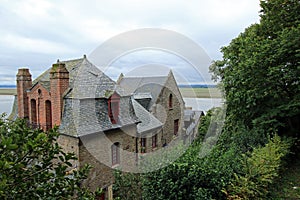
[[[281,171],[270,193],[272,199],[300,199],[300,154]]]

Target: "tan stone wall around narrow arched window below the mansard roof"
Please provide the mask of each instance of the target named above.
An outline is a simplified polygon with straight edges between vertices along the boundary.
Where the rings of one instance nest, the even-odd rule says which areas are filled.
[[[131,136],[134,133],[135,125],[81,138],[80,166],[88,163],[93,167],[84,185],[92,190],[98,187],[106,188],[114,182],[113,168],[131,171],[136,166],[136,140]],[[116,142],[120,144],[120,164],[112,166],[111,146]]]

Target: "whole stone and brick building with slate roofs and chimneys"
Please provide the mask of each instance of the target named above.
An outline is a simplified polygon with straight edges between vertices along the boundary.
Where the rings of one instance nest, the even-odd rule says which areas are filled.
[[[113,168],[131,171],[140,154],[181,138],[183,112],[171,71],[115,82],[84,56],[58,61],[34,81],[29,69],[19,69],[11,116],[44,131],[59,126],[59,143],[78,157],[73,168],[93,167],[84,184],[110,190]]]

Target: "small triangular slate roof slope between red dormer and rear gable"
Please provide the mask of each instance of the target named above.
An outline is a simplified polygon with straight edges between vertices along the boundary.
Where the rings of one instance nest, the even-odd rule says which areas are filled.
[[[140,120],[140,123],[137,125],[137,132],[139,134],[146,134],[163,126],[163,123],[149,113],[136,100],[132,99],[132,105],[136,116]]]

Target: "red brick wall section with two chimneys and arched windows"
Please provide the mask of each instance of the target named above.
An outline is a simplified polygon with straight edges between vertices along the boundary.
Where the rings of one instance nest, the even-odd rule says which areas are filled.
[[[31,87],[29,69],[19,69],[17,74],[18,116],[28,118],[33,127],[42,128],[45,131],[54,125],[60,125],[63,94],[69,88],[69,72],[65,64],[53,64],[50,71],[50,91],[41,83]],[[31,90],[28,92],[29,89]]]

